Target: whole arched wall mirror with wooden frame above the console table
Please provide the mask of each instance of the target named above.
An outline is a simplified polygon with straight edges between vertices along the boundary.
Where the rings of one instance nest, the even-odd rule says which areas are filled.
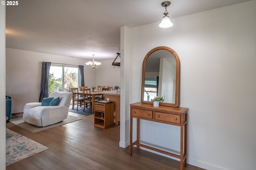
[[[142,64],[141,103],[153,104],[155,96],[164,97],[160,106],[178,107],[180,59],[169,47],[156,47],[148,52]]]

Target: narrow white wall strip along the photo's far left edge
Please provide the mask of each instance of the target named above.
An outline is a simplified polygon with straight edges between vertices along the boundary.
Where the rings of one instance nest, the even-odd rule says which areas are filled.
[[[5,170],[5,6],[0,6],[0,170]]]

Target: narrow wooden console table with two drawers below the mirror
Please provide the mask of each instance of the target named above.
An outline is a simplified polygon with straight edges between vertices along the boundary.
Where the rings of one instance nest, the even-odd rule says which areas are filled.
[[[167,154],[180,159],[180,170],[186,166],[186,143],[187,143],[187,108],[159,106],[153,107],[151,104],[134,103],[130,104],[130,156],[132,156],[132,147],[144,147],[156,152]],[[132,142],[132,118],[137,119],[137,139]],[[140,119],[166,123],[180,126],[180,155],[156,149],[140,143]]]

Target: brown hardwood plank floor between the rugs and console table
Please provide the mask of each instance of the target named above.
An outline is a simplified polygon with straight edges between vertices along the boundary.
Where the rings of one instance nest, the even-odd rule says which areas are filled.
[[[50,149],[6,167],[6,170],[179,170],[179,162],[145,150],[119,147],[120,126],[94,127],[94,115],[66,125],[31,133],[12,123],[6,128]],[[184,170],[203,170],[187,164]]]

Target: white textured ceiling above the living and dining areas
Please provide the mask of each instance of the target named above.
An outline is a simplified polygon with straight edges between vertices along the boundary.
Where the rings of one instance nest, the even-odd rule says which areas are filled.
[[[167,10],[176,18],[246,1],[172,0]],[[121,26],[160,23],[164,13],[163,0],[18,2],[6,6],[7,48],[96,60],[115,59]]]

